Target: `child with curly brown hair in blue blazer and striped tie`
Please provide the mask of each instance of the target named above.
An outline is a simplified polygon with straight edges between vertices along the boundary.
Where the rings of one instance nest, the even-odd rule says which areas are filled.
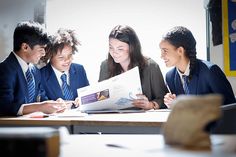
[[[51,43],[46,48],[47,56],[44,58],[47,65],[40,69],[42,85],[49,99],[74,101],[78,97],[77,89],[89,85],[84,67],[72,63],[78,44],[75,31],[70,29],[61,28],[51,36]],[[62,75],[66,75],[66,92]],[[78,101],[74,103],[78,105]]]

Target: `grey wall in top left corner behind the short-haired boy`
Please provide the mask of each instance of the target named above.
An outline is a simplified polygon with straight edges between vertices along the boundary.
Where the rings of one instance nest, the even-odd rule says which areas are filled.
[[[16,24],[25,20],[40,20],[38,7],[46,0],[0,1],[0,61],[13,50],[13,31]]]

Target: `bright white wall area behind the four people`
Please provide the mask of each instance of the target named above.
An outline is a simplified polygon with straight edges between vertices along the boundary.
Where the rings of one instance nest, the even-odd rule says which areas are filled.
[[[159,64],[163,76],[170,68],[161,59],[159,42],[174,26],[182,25],[193,32],[197,57],[206,59],[203,0],[67,0],[66,4],[64,0],[49,0],[46,10],[49,32],[64,27],[78,33],[81,46],[74,62],[84,65],[90,84],[98,81],[100,64],[108,55],[108,35],[118,24],[135,30],[142,53]],[[96,59],[91,60],[91,57]]]

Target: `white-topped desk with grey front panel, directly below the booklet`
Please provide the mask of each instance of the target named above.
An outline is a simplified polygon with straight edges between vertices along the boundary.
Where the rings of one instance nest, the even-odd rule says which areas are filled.
[[[82,119],[71,119],[74,133],[157,134],[169,112],[92,114]]]

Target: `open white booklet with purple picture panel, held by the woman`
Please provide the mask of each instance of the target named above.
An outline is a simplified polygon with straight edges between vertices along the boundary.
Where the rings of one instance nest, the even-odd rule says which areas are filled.
[[[136,94],[142,94],[139,69],[129,71],[77,90],[80,111],[114,111],[133,107]]]

